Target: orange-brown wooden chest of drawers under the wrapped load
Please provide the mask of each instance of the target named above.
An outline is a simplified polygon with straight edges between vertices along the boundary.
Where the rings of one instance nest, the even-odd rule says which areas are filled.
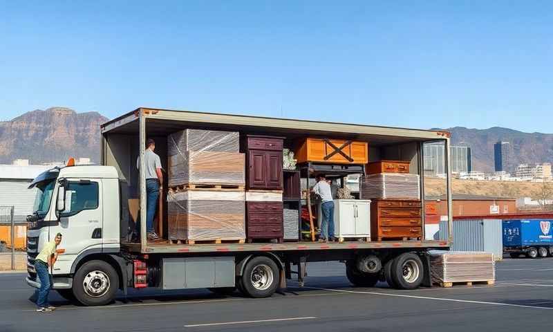
[[[371,202],[371,237],[382,239],[421,239],[420,201],[375,199]]]

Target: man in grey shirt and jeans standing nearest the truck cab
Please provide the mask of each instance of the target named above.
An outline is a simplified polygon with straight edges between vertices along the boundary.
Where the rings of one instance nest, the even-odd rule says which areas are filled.
[[[160,156],[153,153],[156,142],[149,138],[144,151],[144,164],[146,165],[146,230],[147,239],[158,239],[158,234],[153,231],[153,217],[156,216],[156,207],[160,188],[163,186],[163,174],[161,172]],[[140,156],[136,160],[136,168],[140,169]]]

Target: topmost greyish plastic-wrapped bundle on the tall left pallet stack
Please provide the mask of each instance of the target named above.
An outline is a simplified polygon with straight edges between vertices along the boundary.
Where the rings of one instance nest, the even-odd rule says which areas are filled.
[[[185,129],[167,137],[167,154],[174,156],[185,151],[240,151],[238,131],[215,131],[202,129]]]

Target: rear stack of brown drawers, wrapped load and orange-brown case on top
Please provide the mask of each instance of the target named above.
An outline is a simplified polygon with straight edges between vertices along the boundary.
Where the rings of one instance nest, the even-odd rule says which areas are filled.
[[[359,183],[362,199],[371,199],[371,237],[422,239],[420,178],[409,173],[409,162],[382,160],[369,163]]]

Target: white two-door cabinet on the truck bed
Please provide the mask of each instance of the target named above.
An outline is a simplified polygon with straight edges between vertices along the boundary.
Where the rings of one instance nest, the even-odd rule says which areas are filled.
[[[319,227],[322,219],[319,204]],[[371,237],[371,201],[359,199],[334,200],[334,232],[336,237]]]

